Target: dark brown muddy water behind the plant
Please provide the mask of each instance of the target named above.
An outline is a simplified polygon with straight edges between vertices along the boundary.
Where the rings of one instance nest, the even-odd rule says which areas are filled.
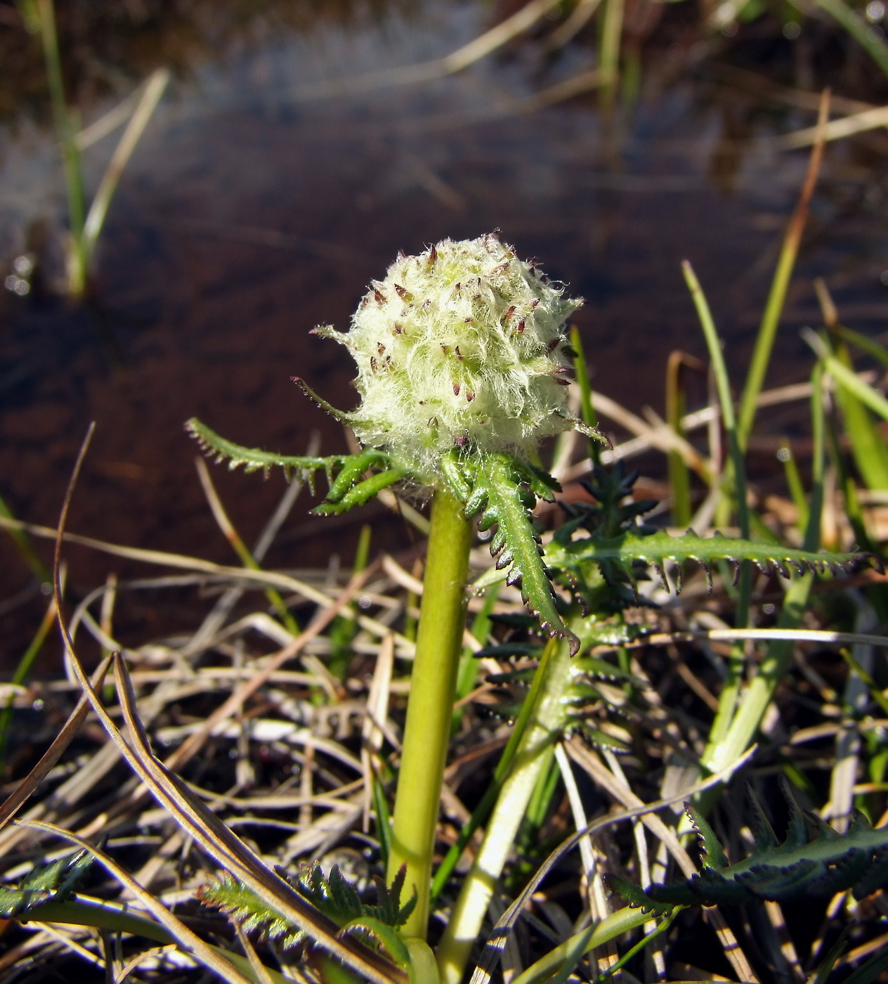
[[[683,258],[710,294],[740,382],[806,165],[806,154],[781,150],[776,138],[810,125],[813,113],[779,93],[751,94],[736,74],[726,85],[701,60],[685,6],[670,5],[642,59],[637,100],[610,122],[592,94],[528,111],[535,93],[591,66],[588,37],[548,60],[532,38],[458,76],[388,88],[361,81],[470,40],[494,16],[478,3],[356,7],[342,23],[318,23],[310,11],[299,24],[258,16],[233,37],[216,36],[208,15],[192,26],[197,54],[177,50],[178,74],[112,204],[91,305],[71,309],[36,283],[25,297],[0,298],[0,494],[13,513],[55,523],[94,420],[71,528],[230,561],[182,422],[198,415],[233,440],[289,453],[320,430],[326,452],[342,449],[336,426],[289,382],[304,376],[328,400],[353,405],[342,350],[310,329],[346,326],[397,250],[495,226],[586,298],[577,323],[593,383],[608,396],[662,411],[670,351],[702,353]],[[723,69],[764,67],[792,85],[806,38],[786,41],[778,29],[777,40],[752,31],[742,47],[707,43]],[[143,75],[163,63],[162,51],[133,50]],[[832,63],[822,64],[828,76]],[[865,96],[865,78],[847,75],[839,87]],[[319,84],[350,78],[349,92],[319,96]],[[108,85],[114,95],[93,87],[85,96],[87,121],[132,88]],[[63,185],[53,138],[33,122],[45,103],[39,92],[23,102],[22,111],[6,107],[0,133],[0,249],[11,262],[29,236],[45,243],[51,281]],[[89,151],[93,187],[113,142]],[[885,143],[873,135],[828,150],[769,382],[809,369],[798,329],[817,320],[814,276],[827,278],[850,325],[881,330]],[[213,474],[251,541],[282,479]],[[268,562],[323,565],[331,551],[348,562],[352,531],[307,519],[307,508],[297,506]],[[381,509],[367,516],[381,540],[407,542]],[[30,573],[8,543],[0,551],[2,601],[27,591]],[[81,586],[111,568],[133,570],[84,552],[71,559]],[[11,654],[41,604],[4,606]]]

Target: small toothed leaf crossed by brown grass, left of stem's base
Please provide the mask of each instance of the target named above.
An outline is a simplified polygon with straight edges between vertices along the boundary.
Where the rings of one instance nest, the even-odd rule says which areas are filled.
[[[398,927],[403,925],[416,905],[415,893],[403,905],[400,903],[404,874],[402,868],[390,889],[385,887],[383,879],[375,880],[376,905],[361,900],[355,887],[342,877],[338,865],[333,865],[328,878],[317,861],[311,866],[305,865],[294,888],[340,927],[368,919],[384,926]],[[241,885],[227,872],[214,875],[198,892],[198,897],[239,922],[246,932],[265,933],[269,940],[275,941],[284,950],[295,947],[305,939],[301,930],[269,909],[256,892]]]

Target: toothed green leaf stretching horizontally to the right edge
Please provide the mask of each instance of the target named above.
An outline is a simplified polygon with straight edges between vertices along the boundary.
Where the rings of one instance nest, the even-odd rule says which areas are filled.
[[[735,539],[719,533],[704,538],[697,536],[693,530],[688,530],[683,536],[670,536],[662,529],[647,535],[627,531],[620,536],[606,537],[595,533],[569,543],[553,541],[546,549],[546,564],[564,571],[575,584],[585,583],[588,568],[594,564],[601,569],[607,580],[614,577],[616,568],[622,579],[634,585],[636,575],[633,574],[632,565],[641,561],[657,571],[667,588],[669,583],[666,567],[668,563],[672,563],[674,567],[671,573],[676,580],[677,590],[681,590],[682,563],[696,561],[711,583],[710,565],[717,560],[726,560],[733,564],[735,574],[740,571],[740,562],[747,560],[762,573],[776,571],[784,578],[790,577],[791,567],[799,574],[811,571],[820,575],[827,572],[839,575],[848,574],[864,563],[879,563],[871,554],[814,553],[771,543]]]

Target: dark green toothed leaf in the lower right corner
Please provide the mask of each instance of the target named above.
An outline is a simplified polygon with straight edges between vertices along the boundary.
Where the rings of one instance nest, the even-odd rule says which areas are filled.
[[[700,873],[675,885],[653,885],[647,892],[622,880],[612,880],[611,887],[630,905],[662,908],[740,904],[758,898],[782,902],[849,889],[859,899],[888,885],[888,827],[874,830],[856,812],[849,830],[840,834],[819,817],[807,814],[813,828],[809,832],[805,815],[785,780],[783,789],[790,807],[790,823],[782,843],[750,794],[753,818],[749,826],[755,848],[745,860],[729,865],[712,829],[688,809],[705,851]]]

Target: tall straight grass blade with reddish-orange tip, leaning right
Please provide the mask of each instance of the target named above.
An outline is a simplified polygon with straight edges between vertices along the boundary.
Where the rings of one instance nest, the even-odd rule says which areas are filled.
[[[811,149],[811,155],[808,158],[807,173],[804,178],[804,184],[801,186],[799,202],[787,225],[783,245],[780,249],[780,257],[777,261],[777,269],[774,271],[771,290],[768,293],[764,314],[762,315],[761,324],[758,327],[758,336],[755,339],[752,361],[749,363],[749,371],[746,375],[746,385],[743,387],[743,395],[740,399],[738,440],[742,451],[746,450],[749,432],[752,430],[752,423],[755,420],[756,400],[758,400],[758,395],[761,393],[765,381],[765,374],[768,371],[768,363],[771,361],[774,338],[777,335],[777,327],[780,324],[780,316],[783,312],[784,303],[786,302],[790,279],[793,276],[796,258],[799,255],[799,244],[801,243],[801,234],[804,231],[808,206],[814,194],[817,175],[820,173],[820,163],[823,160],[824,140],[822,131],[828,118],[829,90],[825,89],[820,96],[820,108],[817,114],[817,126],[820,130],[820,136]]]

